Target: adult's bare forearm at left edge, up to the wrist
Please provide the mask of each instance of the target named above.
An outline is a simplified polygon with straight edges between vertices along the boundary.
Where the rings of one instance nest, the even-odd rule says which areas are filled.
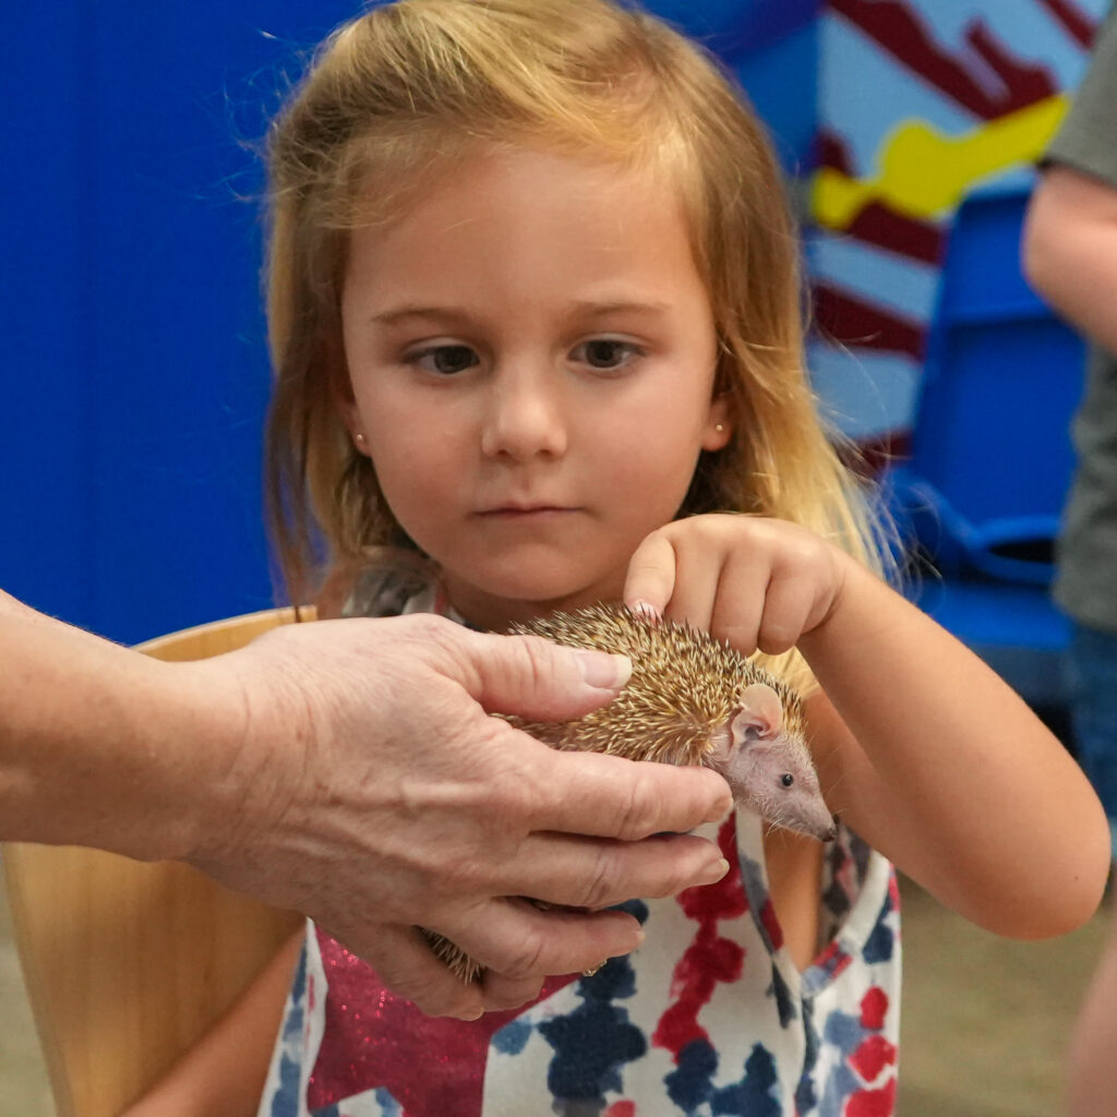
[[[200,820],[181,785],[220,776],[241,712],[226,718],[165,686],[163,665],[3,593],[0,661],[0,840],[144,860],[190,847]]]

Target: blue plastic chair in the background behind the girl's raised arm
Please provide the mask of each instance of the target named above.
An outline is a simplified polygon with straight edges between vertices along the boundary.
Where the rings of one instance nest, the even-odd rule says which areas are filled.
[[[1073,468],[1081,338],[1029,288],[1030,188],[966,198],[947,245],[911,432],[886,494],[930,558],[911,595],[1035,705],[1059,705],[1069,629],[1049,596]]]

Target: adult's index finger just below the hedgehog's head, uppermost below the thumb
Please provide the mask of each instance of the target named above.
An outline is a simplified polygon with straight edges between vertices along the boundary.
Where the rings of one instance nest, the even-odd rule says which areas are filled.
[[[639,841],[657,833],[686,833],[724,819],[733,806],[728,784],[709,768],[601,753],[551,755],[555,768],[546,781],[550,794],[536,804],[537,831]]]

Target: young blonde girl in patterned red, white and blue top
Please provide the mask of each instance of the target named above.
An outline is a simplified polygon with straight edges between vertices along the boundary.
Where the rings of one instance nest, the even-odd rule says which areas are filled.
[[[1108,830],[1028,708],[872,572],[752,113],[608,0],[401,0],[331,37],[270,159],[296,600],[324,544],[325,614],[685,619],[806,695],[842,824],[824,848],[734,812],[723,879],[627,906],[638,951],[471,1022],[309,926],[135,1111],[251,1111],[289,989],[261,1115],[890,1114],[889,862],[983,927],[1057,935],[1098,904]]]

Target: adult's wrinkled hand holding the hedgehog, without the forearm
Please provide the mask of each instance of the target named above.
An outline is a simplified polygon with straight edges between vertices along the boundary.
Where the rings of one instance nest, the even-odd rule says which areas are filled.
[[[486,714],[581,716],[615,695],[623,659],[416,615],[289,626],[183,666],[247,710],[222,784],[239,798],[189,860],[311,915],[429,1013],[521,1004],[642,937],[624,913],[510,897],[600,908],[725,871],[681,833],[729,809],[718,776],[553,752]],[[485,985],[454,978],[417,926],[488,967]]]

